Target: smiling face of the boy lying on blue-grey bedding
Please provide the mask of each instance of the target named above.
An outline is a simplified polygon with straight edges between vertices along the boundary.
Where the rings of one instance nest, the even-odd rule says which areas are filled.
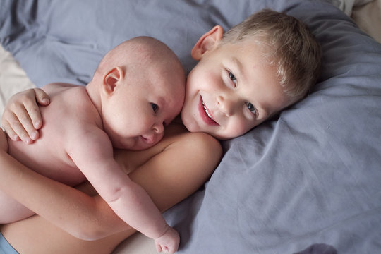
[[[258,44],[206,44],[195,45],[193,56],[199,63],[186,83],[181,118],[189,131],[235,138],[291,104]]]

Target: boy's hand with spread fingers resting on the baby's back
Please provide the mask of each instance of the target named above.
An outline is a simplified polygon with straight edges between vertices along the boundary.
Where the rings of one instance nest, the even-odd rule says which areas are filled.
[[[47,106],[49,96],[40,88],[18,92],[8,100],[1,117],[1,126],[12,140],[30,144],[37,140],[42,117],[38,104]]]

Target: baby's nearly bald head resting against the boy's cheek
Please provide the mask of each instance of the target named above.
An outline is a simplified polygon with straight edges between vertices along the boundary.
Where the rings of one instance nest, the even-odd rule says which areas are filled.
[[[114,147],[142,150],[155,145],[183,106],[181,63],[152,37],[135,37],[111,49],[92,83],[100,92],[104,131]]]

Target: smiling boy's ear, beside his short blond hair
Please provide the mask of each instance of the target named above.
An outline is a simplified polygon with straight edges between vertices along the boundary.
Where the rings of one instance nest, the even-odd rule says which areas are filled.
[[[222,35],[224,28],[221,25],[216,25],[209,32],[205,32],[192,49],[193,59],[199,61],[205,52],[213,50],[222,39]]]

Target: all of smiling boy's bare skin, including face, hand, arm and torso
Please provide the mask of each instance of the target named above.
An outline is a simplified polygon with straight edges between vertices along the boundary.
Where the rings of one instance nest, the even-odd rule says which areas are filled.
[[[205,132],[216,138],[227,139],[246,133],[250,128],[262,123],[278,111],[301,99],[301,97],[290,97],[284,93],[277,79],[277,71],[271,68],[272,66],[268,63],[269,59],[258,55],[257,50],[264,50],[258,48],[258,44],[250,42],[250,40],[221,44],[222,33],[222,28],[217,26],[206,32],[205,35],[202,35],[200,40],[195,44],[195,47],[193,47],[192,56],[199,62],[188,75],[186,99],[181,119],[188,131]],[[231,54],[234,52],[237,54]],[[242,52],[245,54],[241,54]],[[311,58],[315,60],[314,57]],[[255,74],[253,75],[253,73]],[[1,119],[1,123],[6,128],[7,133],[19,136],[22,140],[25,140],[28,136],[36,139],[33,138],[34,135],[31,135],[31,133],[37,133],[38,130],[33,124],[38,126],[41,118],[35,99],[41,102],[42,98],[46,98],[46,95],[40,92],[39,90],[24,92],[22,95],[19,95],[19,100],[17,97],[14,97],[13,102],[8,104],[3,119]],[[37,96],[35,96],[35,93]],[[23,96],[26,96],[25,102],[27,106],[21,101]],[[30,114],[25,114],[26,111],[30,112]],[[25,119],[23,124],[20,124],[19,118]],[[185,130],[181,131],[179,126],[172,123],[167,128],[162,142],[154,147],[149,150],[139,151],[139,155],[132,154],[130,153],[131,151],[124,151],[120,154],[118,152],[120,156],[116,157],[116,160],[121,159],[119,162],[125,165],[123,167],[127,168],[129,167],[128,162],[122,158],[128,157],[128,154],[132,155],[132,157],[136,156],[146,159],[145,162],[142,161],[142,164],[131,172],[131,179],[147,189],[147,192],[152,195],[152,199],[155,200],[160,210],[174,205],[182,198],[186,198],[187,193],[182,192],[183,186],[186,186],[184,189],[189,191],[192,188],[193,190],[198,188],[201,184],[200,181],[207,178],[204,178],[205,176],[198,178],[200,172],[209,172],[208,174],[211,174],[221,155],[221,147],[210,136],[202,133],[183,132]],[[188,147],[186,144],[191,141],[194,143],[191,147]],[[162,144],[167,145],[163,147]],[[216,157],[216,155],[219,156]],[[28,178],[29,184],[33,182],[35,186],[32,192],[33,195],[46,195],[46,193],[50,193],[52,196],[49,200],[52,202],[54,202],[54,198],[57,195],[61,196],[63,200],[73,199],[69,198],[66,192],[57,191],[57,189],[66,190],[65,187],[67,186],[56,186],[54,183],[48,184],[39,176],[31,176],[30,172],[32,171],[20,167],[20,165],[16,167],[16,162],[4,156],[0,156],[0,162],[1,164],[8,165],[7,168],[12,169],[12,174],[8,172],[9,169],[0,170],[0,186],[9,195],[12,195],[13,198],[16,198],[31,210],[38,210],[43,218],[48,218],[49,222],[60,226],[61,229],[71,234],[73,234],[73,231],[78,232],[83,230],[83,226],[71,224],[70,221],[73,219],[72,217],[85,213],[89,209],[88,207],[92,207],[91,205],[83,205],[83,210],[73,211],[72,217],[63,222],[62,219],[59,219],[60,210],[58,208],[54,210],[54,207],[52,207],[52,210],[48,210],[42,207],[42,204],[47,200],[46,198],[41,198],[40,205],[37,205],[37,202],[32,202],[27,198],[28,191],[19,191],[13,184],[27,184],[23,182],[23,179],[18,177],[18,171],[19,173],[28,174],[30,176]],[[167,170],[157,172],[155,170],[157,165]],[[202,169],[199,171],[200,168]],[[1,179],[1,176],[10,177],[10,175],[13,175],[11,181]],[[39,179],[39,181],[35,179]],[[158,181],[153,181],[155,179],[158,179]],[[8,184],[8,182],[13,184]],[[36,189],[39,191],[36,191]],[[54,196],[53,193],[55,193]],[[74,190],[71,190],[71,193],[73,197],[80,195],[84,200],[88,198],[85,198]],[[79,202],[78,199],[75,201]],[[83,202],[85,203],[85,201]],[[93,200],[88,202],[92,203]],[[78,207],[80,207],[80,204],[78,204]],[[47,233],[47,236],[54,242],[49,246],[52,250],[65,253],[64,249],[68,250],[68,252],[78,250],[83,252],[83,249],[85,249],[88,253],[92,253],[92,250],[98,250],[99,248],[99,250],[109,253],[123,238],[129,236],[131,231],[115,234],[120,232],[119,230],[126,225],[116,222],[115,215],[109,214],[107,205],[97,205],[93,208],[91,210],[96,211],[97,215],[90,216],[92,220],[85,219],[85,222],[82,223],[87,226],[95,226],[93,228],[95,229],[94,231],[99,231],[99,228],[102,229],[102,236],[108,237],[101,241],[92,243],[80,241],[63,231],[49,229],[51,225],[44,222],[41,217],[32,217],[30,220],[6,225],[1,229],[1,232],[4,232],[8,241],[15,243],[14,246],[19,246],[20,250],[28,248],[28,245],[21,243],[23,237],[20,237],[18,233],[22,231],[23,236],[25,236],[28,235],[28,232],[35,230],[33,226],[39,226],[42,230],[48,228],[47,231],[52,233]],[[109,223],[110,221],[113,223]],[[41,224],[44,225],[41,226]],[[101,225],[99,226],[99,224]],[[28,229],[25,229],[26,227]],[[37,237],[35,237],[35,240],[39,241]],[[65,244],[62,246],[61,242]],[[40,250],[44,250],[44,247],[41,246]]]

